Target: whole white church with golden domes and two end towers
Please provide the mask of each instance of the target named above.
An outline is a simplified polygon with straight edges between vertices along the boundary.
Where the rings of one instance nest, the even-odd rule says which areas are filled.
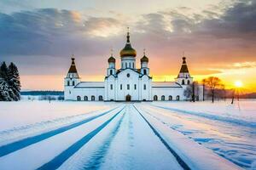
[[[125,48],[120,51],[121,68],[117,69],[113,54],[108,59],[107,75],[104,82],[81,82],[74,58],[64,78],[64,98],[84,101],[153,101],[186,100],[183,95],[193,82],[189,74],[186,58],[175,82],[152,82],[149,76],[148,57],[143,55],[140,68],[136,67],[137,52],[131,47],[129,31]],[[202,99],[202,93],[197,99]]]

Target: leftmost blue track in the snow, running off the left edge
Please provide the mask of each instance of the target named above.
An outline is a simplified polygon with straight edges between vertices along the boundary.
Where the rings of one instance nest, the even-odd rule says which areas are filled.
[[[15,141],[13,143],[10,143],[10,144],[4,144],[3,146],[0,146],[0,157],[2,156],[6,156],[12,152],[15,152],[17,150],[20,150],[22,148],[25,148],[31,144],[35,144],[35,143],[38,143],[44,139],[48,139],[52,136],[55,136],[56,134],[59,134],[59,133],[63,133],[63,132],[66,132],[67,130],[70,130],[74,127],[79,127],[80,125],[83,125],[84,123],[87,123],[87,122],[90,122],[100,116],[104,116],[106,114],[108,114],[109,112],[117,109],[118,107],[116,108],[113,108],[112,110],[109,110],[109,111],[105,111],[103,112],[102,114],[100,115],[97,115],[97,116],[91,116],[89,118],[86,118],[80,122],[75,122],[71,125],[67,125],[65,127],[60,127],[60,128],[57,128],[55,130],[51,130],[49,132],[46,132],[46,133],[41,133],[41,134],[38,134],[38,135],[35,135],[35,136],[32,136],[32,137],[29,137],[29,138],[26,138],[26,139],[21,139],[21,140],[18,140],[18,141]]]

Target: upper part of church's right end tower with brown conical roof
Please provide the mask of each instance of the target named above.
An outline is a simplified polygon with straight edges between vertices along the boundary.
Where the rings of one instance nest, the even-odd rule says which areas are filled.
[[[190,83],[193,82],[193,77],[190,77],[188,65],[186,62],[186,57],[184,56],[184,54],[183,54],[183,64],[175,80],[181,85],[189,85]]]

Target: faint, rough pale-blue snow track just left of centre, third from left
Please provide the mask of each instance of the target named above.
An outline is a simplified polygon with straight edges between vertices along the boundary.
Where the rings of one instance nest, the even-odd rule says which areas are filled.
[[[117,122],[117,124],[113,128],[112,132],[108,136],[108,139],[105,139],[104,144],[102,144],[102,146],[98,150],[96,150],[94,155],[91,156],[90,161],[84,164],[84,169],[98,169],[99,167],[101,167],[102,161],[104,157],[107,155],[109,147],[113,142],[113,139],[115,138],[116,134],[119,133],[119,128],[124,120],[125,115],[126,111],[120,118],[119,122]]]

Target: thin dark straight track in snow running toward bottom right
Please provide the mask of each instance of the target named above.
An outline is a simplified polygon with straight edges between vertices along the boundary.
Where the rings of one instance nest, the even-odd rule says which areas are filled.
[[[157,130],[143,116],[143,114],[137,110],[137,107],[135,105],[133,105],[133,107],[139,113],[139,115],[143,117],[143,120],[148,123],[148,126],[151,128],[151,130],[154,132],[154,134],[160,139],[162,144],[164,144],[166,146],[166,149],[169,150],[172,153],[172,155],[176,158],[179,165],[181,167],[183,167],[183,169],[185,169],[185,170],[190,170],[190,167],[188,166],[188,164],[185,161],[183,161],[183,159],[180,156],[178,156],[174,150],[172,150],[171,146],[169,144],[167,144],[166,140],[161,137],[160,133],[158,133]]]

